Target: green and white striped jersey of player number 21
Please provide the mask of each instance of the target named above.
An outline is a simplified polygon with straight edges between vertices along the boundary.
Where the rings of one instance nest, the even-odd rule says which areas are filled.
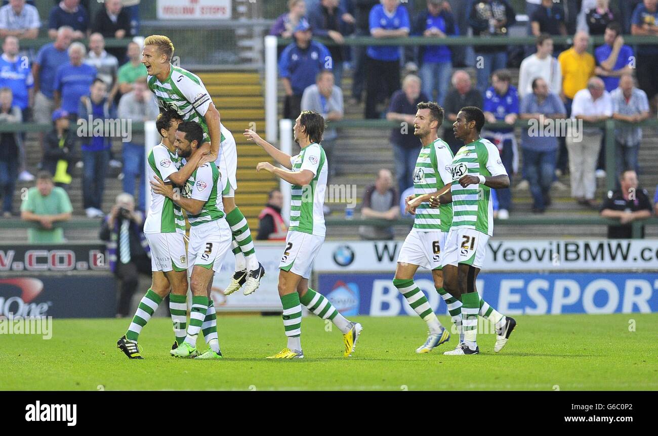
[[[464,145],[450,166],[452,173],[453,227],[472,228],[493,236],[493,204],[491,188],[473,184],[462,187],[459,179],[470,176],[500,176],[507,170],[495,145],[484,138]]]

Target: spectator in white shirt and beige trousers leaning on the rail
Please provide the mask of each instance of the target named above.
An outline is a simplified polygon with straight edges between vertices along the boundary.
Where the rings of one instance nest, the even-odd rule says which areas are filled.
[[[596,162],[601,149],[601,128],[585,126],[580,129],[575,120],[599,122],[613,114],[613,103],[603,80],[590,78],[587,87],[574,96],[571,107],[572,128],[567,133],[571,196],[581,205],[597,207],[594,200],[596,191]],[[578,133],[578,134],[576,134]]]

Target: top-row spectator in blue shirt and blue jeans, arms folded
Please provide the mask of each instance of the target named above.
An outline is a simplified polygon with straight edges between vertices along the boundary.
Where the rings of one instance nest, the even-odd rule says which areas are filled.
[[[457,28],[449,4],[445,0],[427,0],[427,9],[418,14],[414,32],[417,36],[455,36]],[[452,74],[452,53],[446,45],[426,45],[418,47],[422,91],[427,97],[443,106],[450,86]],[[436,100],[434,91],[436,90]]]

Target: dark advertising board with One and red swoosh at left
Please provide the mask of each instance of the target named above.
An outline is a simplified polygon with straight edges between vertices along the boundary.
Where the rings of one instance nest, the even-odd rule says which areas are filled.
[[[116,282],[109,274],[0,279],[0,318],[109,318],[115,313]]]

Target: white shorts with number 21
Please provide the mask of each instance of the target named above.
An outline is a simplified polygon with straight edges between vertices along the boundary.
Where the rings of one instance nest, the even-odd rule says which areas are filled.
[[[453,227],[448,232],[441,256],[443,266],[458,264],[482,268],[489,235],[465,227]]]

